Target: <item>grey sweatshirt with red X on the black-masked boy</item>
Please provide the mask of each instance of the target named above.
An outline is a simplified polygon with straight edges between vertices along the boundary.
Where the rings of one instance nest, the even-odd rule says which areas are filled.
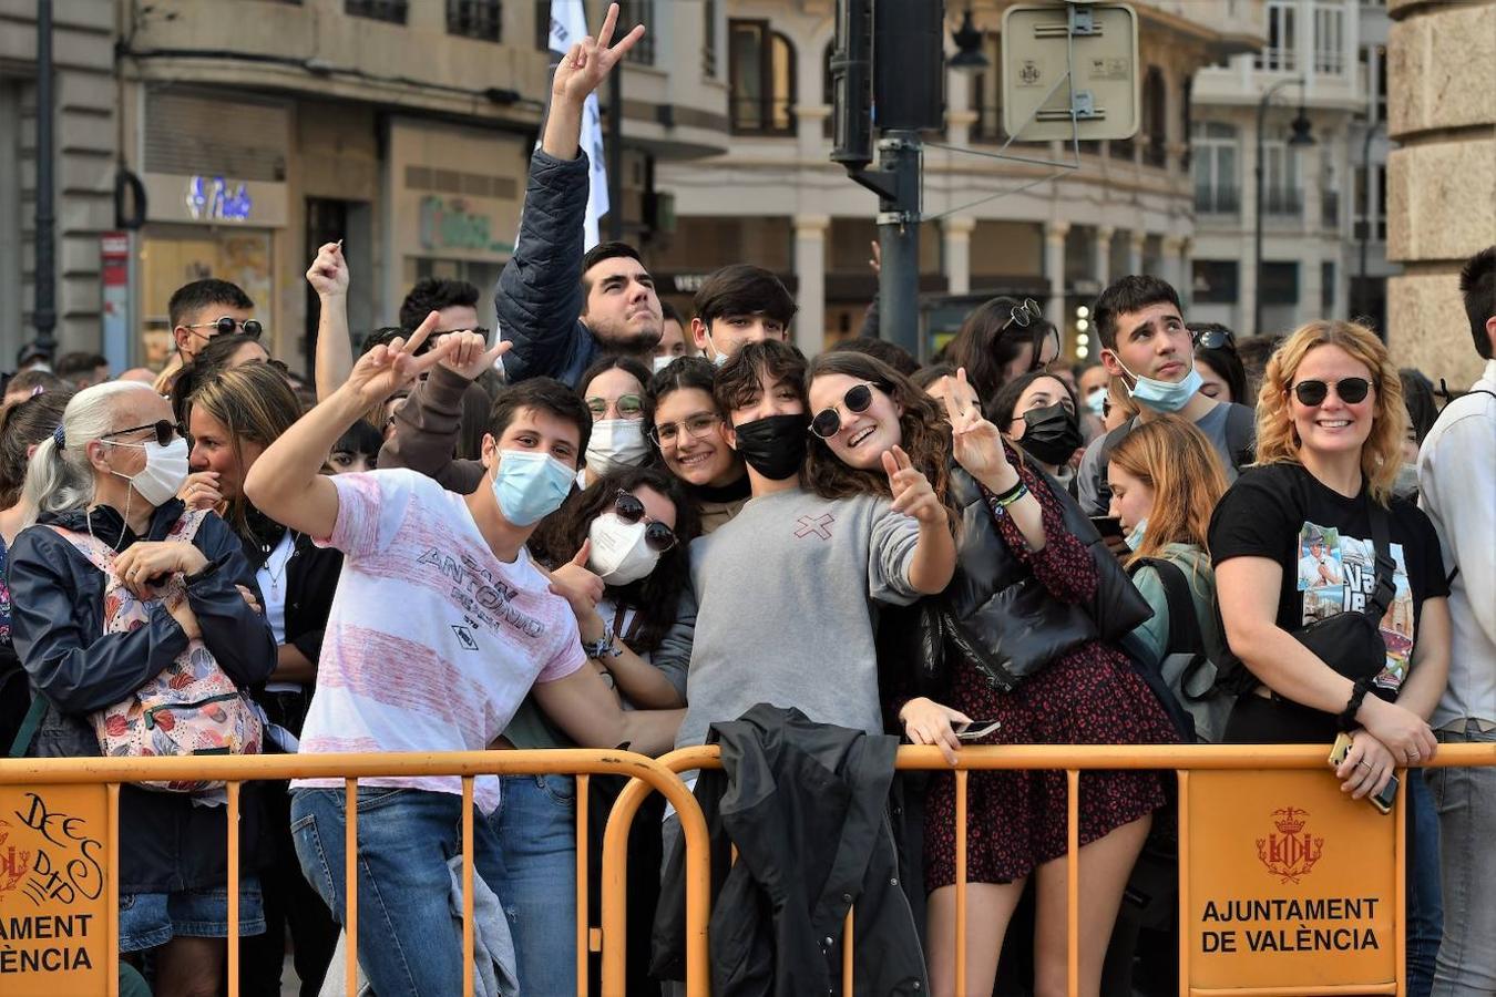
[[[676,747],[705,743],[711,723],[757,703],[881,734],[877,602],[919,598],[908,583],[917,540],[919,523],[886,498],[793,489],[751,499],[694,541],[693,592],[654,655],[687,698]]]

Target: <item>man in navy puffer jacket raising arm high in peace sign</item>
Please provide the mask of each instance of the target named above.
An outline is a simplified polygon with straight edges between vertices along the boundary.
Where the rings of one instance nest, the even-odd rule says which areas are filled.
[[[582,105],[645,33],[637,25],[610,45],[616,22],[612,4],[597,49],[588,55],[573,46],[551,84],[551,114],[530,161],[519,241],[494,302],[500,335],[515,344],[504,357],[510,381],[554,377],[576,386],[604,353],[634,356],[648,366],[660,342],[660,296],[639,251],[600,242],[583,256],[582,245],[589,182],[577,143]]]

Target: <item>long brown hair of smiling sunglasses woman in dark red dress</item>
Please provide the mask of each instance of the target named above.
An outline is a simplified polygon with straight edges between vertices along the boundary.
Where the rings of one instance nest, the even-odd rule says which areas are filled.
[[[910,378],[866,353],[823,353],[811,360],[811,366],[805,371],[806,395],[809,395],[811,383],[823,374],[844,374],[859,381],[871,381],[904,408],[904,414],[899,416],[904,453],[910,454],[910,462],[925,474],[931,487],[935,489],[935,495],[951,514],[951,522],[956,522],[954,510],[947,498],[951,460],[950,426],[941,417],[935,399],[914,387]],[[826,499],[866,493],[892,495],[889,475],[883,472],[881,466],[866,471],[848,466],[815,433],[811,433],[800,483]]]

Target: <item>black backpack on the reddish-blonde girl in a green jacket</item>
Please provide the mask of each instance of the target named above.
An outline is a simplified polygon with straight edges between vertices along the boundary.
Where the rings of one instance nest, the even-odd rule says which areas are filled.
[[[1168,602],[1168,644],[1158,677],[1188,717],[1186,734],[1195,741],[1218,744],[1236,703],[1236,692],[1224,682],[1227,676],[1218,667],[1227,659],[1224,647],[1212,647],[1200,629],[1189,578],[1180,567],[1161,558],[1141,558],[1128,567],[1128,572],[1135,575],[1144,567],[1158,572]]]

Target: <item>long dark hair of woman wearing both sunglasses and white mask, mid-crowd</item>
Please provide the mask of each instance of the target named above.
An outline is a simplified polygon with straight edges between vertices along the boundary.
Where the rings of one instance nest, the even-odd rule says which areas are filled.
[[[654,489],[675,505],[676,544],[664,552],[655,570],[639,581],[609,586],[613,601],[633,608],[637,614],[639,628],[628,643],[636,653],[651,652],[660,646],[666,631],[675,623],[681,592],[690,583],[690,546],[702,532],[702,522],[696,504],[685,493],[685,483],[657,468],[619,468],[600,477],[589,489],[573,492],[560,510],[540,522],[528,544],[531,556],[540,564],[552,568],[565,564],[582,549],[592,520],[612,511],[618,490],[634,492],[640,487]]]

